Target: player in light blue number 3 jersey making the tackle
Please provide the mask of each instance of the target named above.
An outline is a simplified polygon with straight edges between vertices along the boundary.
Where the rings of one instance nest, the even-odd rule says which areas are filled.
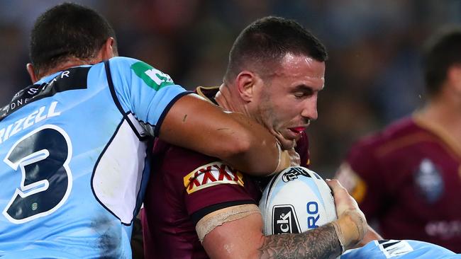
[[[0,113],[1,258],[130,258],[149,136],[252,173],[289,164],[264,127],[116,57],[114,37],[99,13],[77,4],[35,22],[33,85]]]

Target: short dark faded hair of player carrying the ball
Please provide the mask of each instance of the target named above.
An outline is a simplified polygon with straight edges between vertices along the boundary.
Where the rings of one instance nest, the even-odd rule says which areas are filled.
[[[280,62],[288,53],[303,54],[320,62],[328,59],[326,47],[296,21],[274,16],[260,18],[235,40],[224,79],[233,79],[250,66],[267,69],[270,62]]]

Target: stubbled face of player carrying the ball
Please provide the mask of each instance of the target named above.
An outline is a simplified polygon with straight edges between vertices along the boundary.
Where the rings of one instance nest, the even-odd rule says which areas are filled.
[[[257,119],[289,146],[317,119],[317,95],[325,83],[325,62],[287,54],[271,76],[255,88]]]

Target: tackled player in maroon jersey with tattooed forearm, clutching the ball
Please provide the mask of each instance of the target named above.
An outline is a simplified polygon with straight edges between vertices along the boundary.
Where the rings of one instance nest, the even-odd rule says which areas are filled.
[[[326,59],[325,47],[298,23],[262,18],[235,40],[223,84],[197,92],[306,152],[300,141],[317,118]],[[222,142],[207,137],[206,143]],[[265,236],[255,180],[221,159],[161,140],[153,152],[143,214],[147,258],[334,258],[341,245],[350,248],[365,235],[365,217],[335,180],[337,221],[306,234]],[[303,165],[307,160],[301,155]]]

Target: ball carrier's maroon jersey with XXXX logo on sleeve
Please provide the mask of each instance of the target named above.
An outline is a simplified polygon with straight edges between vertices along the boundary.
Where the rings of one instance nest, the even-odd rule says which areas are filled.
[[[214,96],[216,91],[217,88],[199,88],[197,92]],[[309,163],[307,145],[304,133],[296,146],[301,165]],[[260,196],[261,189],[250,176],[219,159],[157,139],[141,212],[145,257],[208,258],[196,234],[196,223],[218,209],[257,205]]]

